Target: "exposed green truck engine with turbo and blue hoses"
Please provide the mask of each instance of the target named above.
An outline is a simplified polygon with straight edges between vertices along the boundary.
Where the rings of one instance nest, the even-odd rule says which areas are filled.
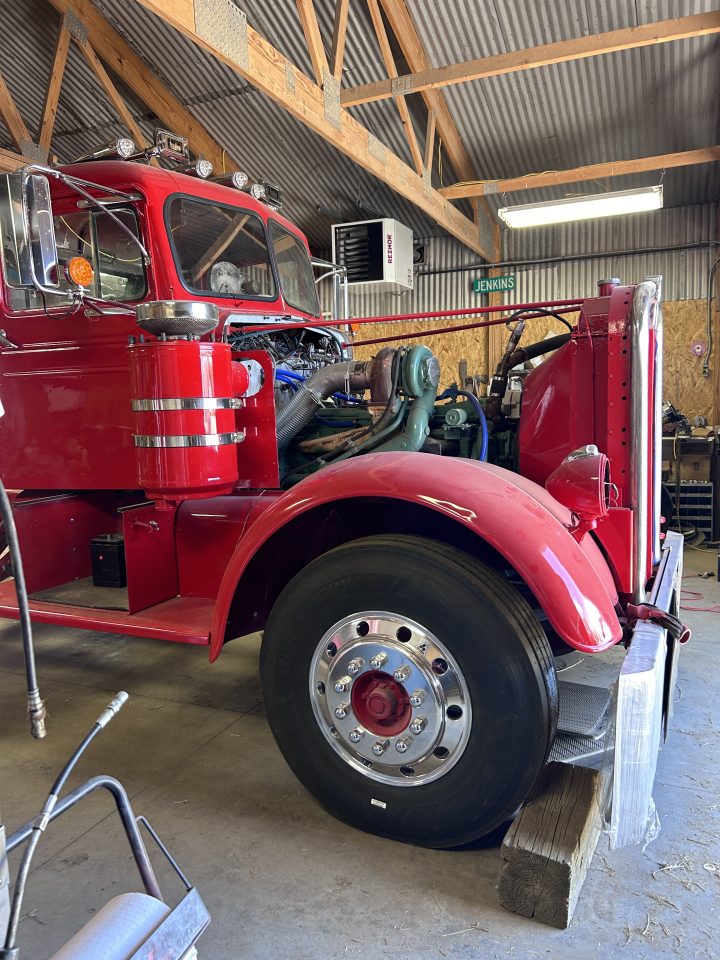
[[[236,351],[272,358],[280,471],[283,486],[291,486],[326,464],[381,451],[489,460],[516,470],[523,368],[570,338],[520,347],[524,327],[519,318],[511,328],[482,399],[455,385],[438,395],[439,364],[423,346],[385,347],[355,361],[351,343],[330,328],[246,328],[228,339]]]

